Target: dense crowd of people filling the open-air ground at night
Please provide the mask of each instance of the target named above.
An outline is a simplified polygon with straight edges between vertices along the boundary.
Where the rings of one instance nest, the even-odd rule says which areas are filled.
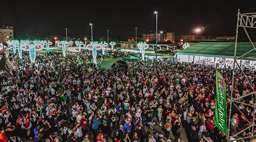
[[[133,53],[98,55],[122,58]],[[0,141],[225,141],[213,125],[215,69],[210,65],[138,60],[128,69],[102,71],[91,53],[49,53],[19,59],[10,53],[13,71],[0,78]],[[220,69],[230,105],[232,69]],[[235,72],[235,97],[255,89],[255,69]],[[254,95],[254,94],[253,94]],[[253,96],[246,103],[254,104]],[[242,113],[240,113],[240,111]],[[253,118],[253,107],[232,111],[232,133]],[[158,129],[160,128],[160,130]],[[187,138],[181,138],[181,131]],[[250,136],[248,129],[237,137]],[[250,139],[247,139],[250,140]]]

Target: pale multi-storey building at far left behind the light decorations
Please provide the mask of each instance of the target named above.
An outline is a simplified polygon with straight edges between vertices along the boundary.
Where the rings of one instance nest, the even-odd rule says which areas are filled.
[[[12,26],[0,28],[0,43],[6,43],[9,39],[14,39],[14,28]]]

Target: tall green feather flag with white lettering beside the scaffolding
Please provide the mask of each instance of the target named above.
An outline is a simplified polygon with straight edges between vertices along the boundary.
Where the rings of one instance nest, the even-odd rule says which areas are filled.
[[[227,133],[226,85],[223,76],[216,70],[215,115],[213,124]]]

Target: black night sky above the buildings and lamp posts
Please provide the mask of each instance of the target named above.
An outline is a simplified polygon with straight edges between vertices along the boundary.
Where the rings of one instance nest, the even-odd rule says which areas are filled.
[[[139,3],[138,3],[139,2]],[[31,1],[9,2],[1,5],[0,24],[14,26],[15,36],[134,36],[158,29],[176,35],[192,34],[194,28],[204,27],[203,35],[234,36],[238,8],[241,12],[256,12],[256,4],[246,1]]]

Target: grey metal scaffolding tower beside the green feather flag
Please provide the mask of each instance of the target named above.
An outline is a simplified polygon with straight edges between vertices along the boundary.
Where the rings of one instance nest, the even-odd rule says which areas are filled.
[[[238,41],[238,31],[239,31],[239,28],[242,28],[244,29],[245,31],[245,34],[248,38],[248,40],[250,41],[250,43],[252,44],[252,50],[246,52],[244,55],[241,55],[240,57],[237,57],[237,41]],[[254,121],[254,118],[255,118],[255,102],[253,104],[249,104],[249,103],[244,103],[244,102],[241,102],[240,100],[247,97],[247,96],[252,96],[254,99],[253,101],[255,100],[255,95],[254,93],[256,93],[256,91],[253,89],[252,87],[252,83],[248,80],[247,76],[245,75],[244,71],[242,70],[242,67],[240,66],[240,64],[238,63],[238,60],[241,60],[241,59],[245,59],[245,55],[247,55],[247,53],[250,53],[250,52],[255,52],[256,54],[256,48],[247,32],[246,29],[256,29],[256,12],[254,13],[240,13],[240,10],[238,9],[238,14],[237,14],[237,26],[236,26],[236,31],[235,31],[235,49],[234,49],[234,63],[233,63],[233,72],[232,72],[232,87],[231,87],[231,103],[230,103],[230,108],[229,108],[229,116],[228,116],[228,131],[227,131],[227,140],[228,141],[234,141],[234,140],[240,140],[240,139],[246,139],[246,138],[255,138],[256,135],[254,133],[254,126],[255,126],[255,121]],[[250,57],[246,57],[246,59],[250,59]],[[235,74],[235,65],[238,66],[239,70],[242,72],[242,75],[243,77],[247,80],[247,83],[250,85],[251,87],[251,92],[250,93],[247,93],[243,96],[240,96],[240,97],[237,97],[235,98],[234,97],[234,74]],[[246,106],[250,106],[250,107],[253,107],[253,118],[252,118],[252,121],[249,121],[247,120],[247,118],[244,116],[244,113],[242,113],[239,109],[238,109],[238,105],[237,104],[244,104]],[[247,122],[248,122],[248,126],[243,129],[243,130],[240,130],[238,131],[237,133],[231,135],[230,133],[230,126],[231,126],[231,112],[232,112],[232,105],[235,106],[235,108],[237,108],[237,110],[246,118]],[[245,137],[245,138],[236,138],[236,136],[238,136],[238,134],[248,130],[248,129],[251,129],[251,134],[250,136],[248,137]]]

